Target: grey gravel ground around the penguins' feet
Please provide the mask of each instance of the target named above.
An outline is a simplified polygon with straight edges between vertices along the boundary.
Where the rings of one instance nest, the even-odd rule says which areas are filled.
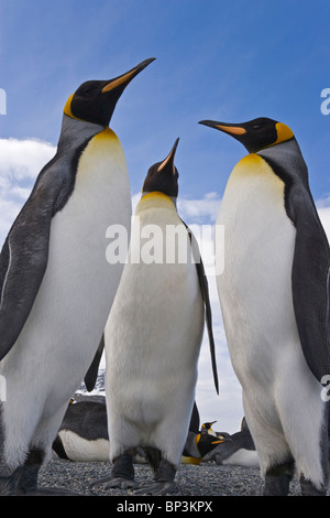
[[[135,464],[135,482],[151,482],[152,472],[146,464]],[[110,464],[106,462],[50,461],[41,471],[40,485],[62,486],[85,496],[134,496],[132,490],[105,489],[102,485],[89,488],[89,484],[108,476]],[[222,466],[215,463],[182,464],[175,478],[173,496],[261,496],[263,482],[258,470]],[[290,495],[299,495],[296,479]]]

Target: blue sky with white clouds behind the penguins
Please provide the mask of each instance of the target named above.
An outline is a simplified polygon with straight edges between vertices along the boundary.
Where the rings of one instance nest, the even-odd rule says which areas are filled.
[[[330,87],[329,46],[328,0],[0,0],[0,88],[7,93],[1,241],[54,154],[69,95],[87,79],[111,79],[147,57],[156,61],[125,89],[110,125],[125,152],[133,195],[179,137],[183,216],[189,224],[212,223],[245,150],[198,121],[271,117],[294,130],[312,194],[329,205],[330,115],[320,110],[321,90]],[[215,398],[201,377],[200,406],[205,419],[233,432],[240,389],[212,282],[223,391]]]

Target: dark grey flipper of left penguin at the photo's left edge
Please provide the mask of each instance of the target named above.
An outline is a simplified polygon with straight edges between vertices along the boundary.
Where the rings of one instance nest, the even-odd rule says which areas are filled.
[[[61,182],[42,175],[13,223],[0,255],[0,360],[19,337],[48,261],[54,201]]]

